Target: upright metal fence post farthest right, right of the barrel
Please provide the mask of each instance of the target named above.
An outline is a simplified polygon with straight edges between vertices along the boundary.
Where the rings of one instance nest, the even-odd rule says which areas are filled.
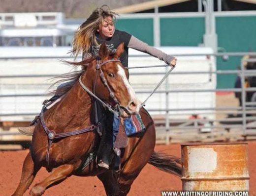
[[[243,132],[244,134],[246,134],[246,92],[245,92],[245,68],[243,65],[243,59],[241,60],[241,75],[240,75],[240,79],[241,79],[241,98],[242,98],[242,115],[243,115]]]

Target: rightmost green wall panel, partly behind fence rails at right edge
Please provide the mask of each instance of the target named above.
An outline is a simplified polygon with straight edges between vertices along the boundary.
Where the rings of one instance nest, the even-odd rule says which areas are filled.
[[[227,52],[256,51],[256,16],[217,17],[218,47]],[[236,70],[242,57],[229,57],[228,61],[217,59],[218,70]],[[217,88],[234,87],[236,75],[218,75]]]

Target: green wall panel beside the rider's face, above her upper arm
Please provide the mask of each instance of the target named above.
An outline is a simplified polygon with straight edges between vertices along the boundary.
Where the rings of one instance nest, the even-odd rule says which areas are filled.
[[[118,19],[116,28],[132,34],[150,46],[154,45],[153,19]]]

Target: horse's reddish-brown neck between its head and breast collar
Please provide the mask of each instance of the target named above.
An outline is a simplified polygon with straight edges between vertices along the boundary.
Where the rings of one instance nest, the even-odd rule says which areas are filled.
[[[50,108],[46,114],[46,123],[53,129],[70,130],[91,125],[92,99],[77,82],[64,95],[64,98]]]

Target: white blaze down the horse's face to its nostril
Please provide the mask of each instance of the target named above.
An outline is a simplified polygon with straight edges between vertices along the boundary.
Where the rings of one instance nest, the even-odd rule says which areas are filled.
[[[134,90],[132,89],[128,79],[127,79],[127,76],[126,76],[126,73],[125,73],[125,70],[124,68],[120,65],[120,64],[117,64],[117,69],[118,69],[118,74],[120,75],[120,77],[123,79],[124,81],[124,84],[128,90],[128,93],[130,95],[130,101],[128,103],[128,110],[131,112],[131,113],[139,113],[139,109],[140,109],[140,106],[141,106],[141,101],[136,97],[135,95],[135,92]]]

